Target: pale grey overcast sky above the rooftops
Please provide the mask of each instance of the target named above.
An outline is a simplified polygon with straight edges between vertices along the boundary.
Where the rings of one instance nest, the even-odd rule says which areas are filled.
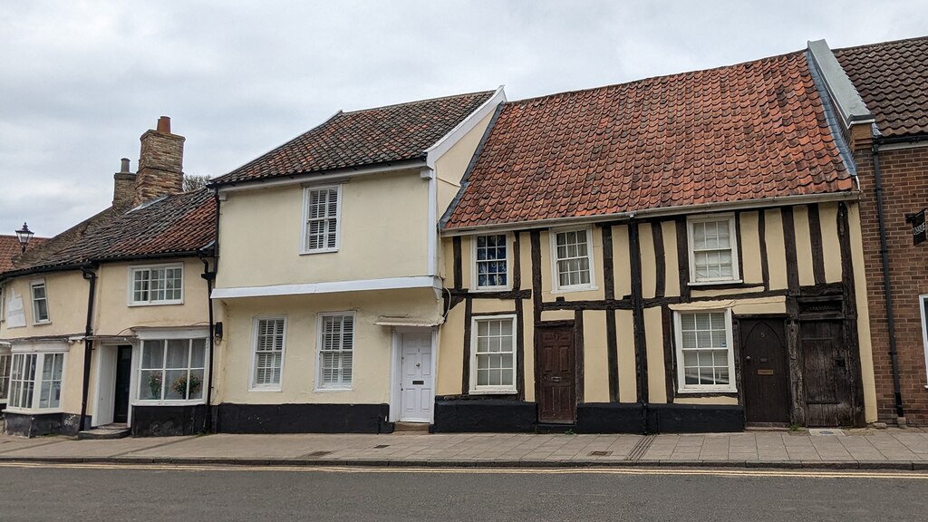
[[[0,233],[106,208],[170,116],[221,176],[332,113],[506,85],[530,98],[928,33],[912,1],[0,0]]]

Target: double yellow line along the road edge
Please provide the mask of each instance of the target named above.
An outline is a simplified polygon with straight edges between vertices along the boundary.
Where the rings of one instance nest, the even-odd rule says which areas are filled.
[[[578,467],[578,468],[497,468],[497,467],[358,467],[294,465],[219,465],[161,463],[0,463],[0,467],[52,469],[135,469],[186,472],[290,472],[290,473],[376,473],[376,474],[470,474],[470,475],[625,475],[625,476],[744,476],[797,478],[877,478],[928,480],[928,473],[911,471],[855,470],[771,470],[729,468],[647,468],[647,467]]]

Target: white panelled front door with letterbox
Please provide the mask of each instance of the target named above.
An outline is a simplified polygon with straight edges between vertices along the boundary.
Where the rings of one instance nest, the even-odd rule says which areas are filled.
[[[400,421],[431,423],[434,399],[432,333],[403,333]]]

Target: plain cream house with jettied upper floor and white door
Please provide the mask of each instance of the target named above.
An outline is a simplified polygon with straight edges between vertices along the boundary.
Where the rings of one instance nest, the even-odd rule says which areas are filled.
[[[225,346],[216,430],[432,422],[437,222],[500,87],[338,112],[213,181]]]

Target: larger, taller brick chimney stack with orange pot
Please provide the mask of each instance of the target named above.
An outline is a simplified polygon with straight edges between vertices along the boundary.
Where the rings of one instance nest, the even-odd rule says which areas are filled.
[[[134,205],[183,191],[186,138],[171,134],[171,118],[161,116],[156,130],[146,131],[140,139]]]

